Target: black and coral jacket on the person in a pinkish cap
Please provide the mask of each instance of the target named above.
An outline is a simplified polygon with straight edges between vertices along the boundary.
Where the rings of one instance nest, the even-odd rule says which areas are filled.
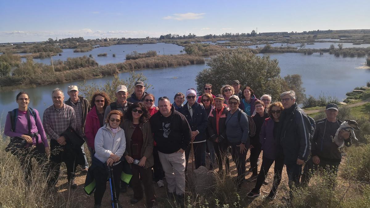
[[[218,138],[219,142],[226,141],[226,117],[227,113],[229,112],[228,107],[224,107],[221,113],[221,116],[218,121],[218,134],[216,129],[216,107],[212,109],[211,114],[208,117],[208,134],[209,134],[209,140],[216,141],[216,138]]]

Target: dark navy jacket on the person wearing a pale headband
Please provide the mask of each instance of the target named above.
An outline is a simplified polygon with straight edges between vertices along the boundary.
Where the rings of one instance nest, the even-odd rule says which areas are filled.
[[[186,104],[179,109],[179,112],[185,115],[191,131],[199,131],[199,134],[196,135],[194,141],[203,141],[206,139],[208,114],[206,113],[204,106],[197,102],[195,102],[191,108],[193,109],[193,117],[190,116],[188,102],[186,102]]]

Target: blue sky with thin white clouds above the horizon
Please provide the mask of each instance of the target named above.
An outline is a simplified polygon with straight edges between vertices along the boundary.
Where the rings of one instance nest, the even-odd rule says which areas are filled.
[[[0,43],[370,28],[369,0],[0,0],[0,8]]]

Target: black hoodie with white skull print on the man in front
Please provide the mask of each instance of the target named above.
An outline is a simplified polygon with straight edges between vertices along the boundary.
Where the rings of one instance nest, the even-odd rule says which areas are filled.
[[[164,116],[160,111],[152,115],[149,120],[154,141],[157,142],[157,150],[165,154],[174,153],[180,148],[185,150],[188,148],[191,140],[191,128],[188,121],[186,121],[184,115],[175,110],[173,105],[171,107],[171,115],[168,118],[171,120],[168,137],[164,137],[165,131],[162,122]]]

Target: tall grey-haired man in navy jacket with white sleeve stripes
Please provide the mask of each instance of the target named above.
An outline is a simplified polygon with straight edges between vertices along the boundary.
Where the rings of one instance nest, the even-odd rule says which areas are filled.
[[[288,174],[289,187],[299,186],[302,164],[310,154],[310,135],[312,125],[306,113],[298,107],[294,91],[286,91],[280,95],[284,110],[280,117],[282,129],[280,144],[284,152],[284,163]],[[290,191],[290,196],[292,192]]]

